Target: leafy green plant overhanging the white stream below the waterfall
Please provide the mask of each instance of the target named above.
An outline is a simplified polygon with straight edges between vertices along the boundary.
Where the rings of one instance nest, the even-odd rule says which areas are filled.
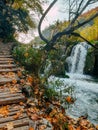
[[[52,99],[60,100],[61,103],[65,103],[65,107],[67,107],[68,102],[66,102],[65,98],[67,96],[73,97],[74,92],[73,86],[65,85],[64,82],[60,79],[55,79],[52,77],[52,80],[48,81],[48,87],[45,89],[45,97]],[[74,98],[73,98],[74,99]]]

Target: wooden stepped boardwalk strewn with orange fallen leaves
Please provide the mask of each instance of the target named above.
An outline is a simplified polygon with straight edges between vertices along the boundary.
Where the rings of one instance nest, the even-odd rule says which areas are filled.
[[[29,130],[29,118],[23,105],[26,99],[20,86],[14,85],[14,81],[19,80],[19,68],[10,54],[11,47],[11,44],[0,43],[0,130]]]

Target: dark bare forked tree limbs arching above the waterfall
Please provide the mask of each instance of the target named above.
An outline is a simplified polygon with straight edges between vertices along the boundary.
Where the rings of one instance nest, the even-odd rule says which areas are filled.
[[[77,3],[77,7],[76,10],[74,10],[74,7],[72,7],[72,5],[74,5],[73,3],[70,3],[70,2],[74,2],[73,0],[69,0],[69,15],[71,16],[74,12],[74,18],[71,20],[71,22],[69,23],[68,27],[65,28],[62,32],[58,32],[56,33],[52,39],[49,41],[47,40],[41,33],[41,24],[43,22],[43,19],[45,18],[45,16],[47,15],[47,13],[49,12],[49,10],[53,7],[53,5],[57,2],[57,0],[54,0],[50,6],[47,8],[47,10],[45,11],[45,13],[42,15],[41,17],[41,20],[39,22],[39,26],[38,26],[38,31],[39,31],[39,35],[41,37],[41,39],[43,41],[45,41],[47,44],[46,46],[44,47],[44,49],[46,51],[50,51],[54,45],[56,44],[56,41],[61,38],[63,35],[66,35],[66,36],[70,36],[70,35],[73,35],[74,34],[74,31],[79,29],[80,27],[82,27],[83,25],[86,25],[88,22],[90,22],[91,20],[93,20],[94,18],[98,17],[98,12],[96,12],[93,16],[91,16],[90,18],[88,18],[87,20],[85,20],[84,22],[82,23],[79,23],[76,25],[74,23],[77,22],[78,20],[78,17],[83,13],[83,11],[88,7],[88,5],[90,5],[91,3],[96,3],[98,2],[98,0],[80,0],[79,2]],[[85,41],[87,41],[85,38],[83,38],[82,36],[79,36],[81,37],[82,39],[84,39]],[[87,41],[88,44],[91,44],[89,41]],[[91,46],[95,47],[94,45],[91,44]]]

